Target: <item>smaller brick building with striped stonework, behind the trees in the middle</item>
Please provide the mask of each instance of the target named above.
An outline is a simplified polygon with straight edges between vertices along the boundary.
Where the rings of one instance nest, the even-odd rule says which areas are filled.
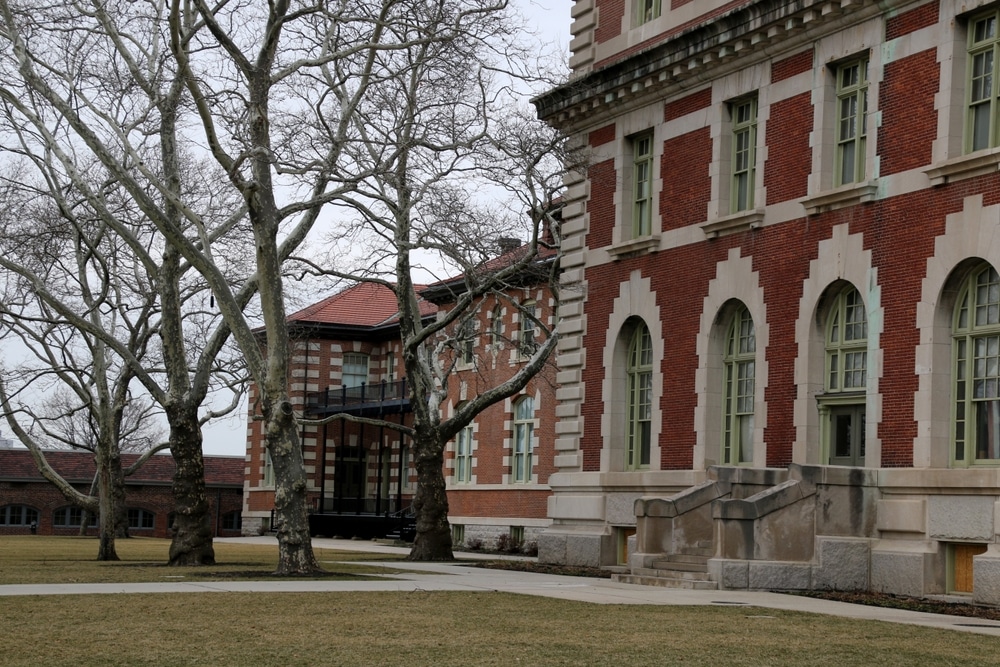
[[[451,305],[462,280],[422,288],[421,312],[434,318]],[[454,363],[449,414],[463,400],[509,378],[526,360],[535,326],[521,308],[553,324],[550,291],[538,276],[484,298],[455,336],[444,360]],[[359,284],[289,316],[294,339],[292,400],[307,418],[350,413],[384,419],[378,427],[335,420],[303,426],[314,534],[384,535],[405,513],[416,490],[409,443],[391,428],[410,417],[395,296],[388,288]],[[455,332],[452,332],[455,334]],[[449,444],[446,479],[456,544],[493,546],[501,535],[530,544],[548,525],[548,476],[552,471],[555,373],[550,369],[519,395],[480,414]],[[273,471],[262,423],[253,418],[250,391],[244,532],[270,528]]]

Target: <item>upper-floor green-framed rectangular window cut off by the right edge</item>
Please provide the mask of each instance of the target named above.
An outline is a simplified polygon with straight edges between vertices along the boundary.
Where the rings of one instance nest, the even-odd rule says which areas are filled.
[[[1000,10],[980,14],[969,21],[968,111],[965,122],[966,152],[997,145],[997,19]]]

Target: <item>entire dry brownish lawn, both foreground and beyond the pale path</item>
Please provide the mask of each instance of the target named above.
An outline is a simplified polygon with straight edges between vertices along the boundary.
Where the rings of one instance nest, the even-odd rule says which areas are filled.
[[[45,554],[34,551],[50,541]],[[119,553],[129,560],[96,564],[80,560],[81,554],[93,557],[93,541],[3,537],[0,574],[3,583],[52,581],[55,573],[61,581],[161,581],[190,571],[159,565],[166,546],[162,540],[123,541]],[[320,551],[319,557],[377,556]],[[266,573],[274,567],[275,548],[218,544],[217,558],[223,565],[205,568],[219,572],[216,578],[228,568]],[[46,577],[38,579],[33,569],[45,570]],[[938,667],[988,664],[1000,647],[995,637],[770,609],[594,605],[490,592],[4,597],[0,624],[0,664],[33,667]]]

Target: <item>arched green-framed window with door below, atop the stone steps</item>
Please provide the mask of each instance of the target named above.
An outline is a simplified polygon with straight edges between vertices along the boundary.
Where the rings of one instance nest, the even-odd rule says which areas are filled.
[[[833,465],[864,465],[867,376],[865,302],[854,286],[848,286],[837,294],[826,321],[826,382],[820,418]]]

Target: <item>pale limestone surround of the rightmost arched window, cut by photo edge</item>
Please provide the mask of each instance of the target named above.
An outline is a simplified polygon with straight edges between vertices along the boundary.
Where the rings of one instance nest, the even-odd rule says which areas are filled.
[[[961,278],[956,269],[977,259],[1000,267],[998,220],[1000,206],[983,206],[981,194],[966,197],[963,209],[947,217],[944,234],[934,241],[934,254],[927,259],[915,322],[920,335],[914,355],[919,382],[913,397],[915,468],[951,465],[952,315],[956,278]]]

